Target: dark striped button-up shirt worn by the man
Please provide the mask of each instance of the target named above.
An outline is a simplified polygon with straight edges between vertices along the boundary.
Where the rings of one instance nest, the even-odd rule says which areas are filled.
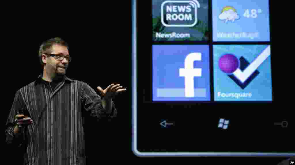
[[[87,83],[64,76],[52,91],[41,80],[39,75],[17,90],[6,122],[6,144],[18,151],[15,157],[23,157],[24,164],[86,164],[85,122],[94,119],[99,124],[115,117],[114,102],[107,114],[101,97]],[[12,123],[22,107],[34,122],[15,137]]]

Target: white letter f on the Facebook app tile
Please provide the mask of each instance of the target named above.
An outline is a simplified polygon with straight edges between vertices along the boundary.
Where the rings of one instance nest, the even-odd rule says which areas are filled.
[[[194,68],[194,61],[201,61],[201,53],[190,53],[185,58],[184,68],[179,69],[179,76],[185,78],[185,97],[194,97],[194,77],[202,76],[202,68]]]

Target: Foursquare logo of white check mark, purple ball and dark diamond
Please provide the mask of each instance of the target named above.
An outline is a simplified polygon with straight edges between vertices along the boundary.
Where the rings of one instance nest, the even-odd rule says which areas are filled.
[[[270,46],[267,46],[251,63],[244,57],[234,54],[225,54],[219,58],[219,68],[226,73],[237,85],[245,89],[260,73],[258,67],[271,55]]]

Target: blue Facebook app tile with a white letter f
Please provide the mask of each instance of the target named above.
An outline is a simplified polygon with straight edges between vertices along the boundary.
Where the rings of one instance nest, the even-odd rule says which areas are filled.
[[[210,101],[208,45],[153,45],[153,101]]]

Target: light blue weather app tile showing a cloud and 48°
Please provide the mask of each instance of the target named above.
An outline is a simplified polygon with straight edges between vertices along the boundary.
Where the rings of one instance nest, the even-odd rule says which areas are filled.
[[[213,41],[270,41],[268,0],[213,0]]]

